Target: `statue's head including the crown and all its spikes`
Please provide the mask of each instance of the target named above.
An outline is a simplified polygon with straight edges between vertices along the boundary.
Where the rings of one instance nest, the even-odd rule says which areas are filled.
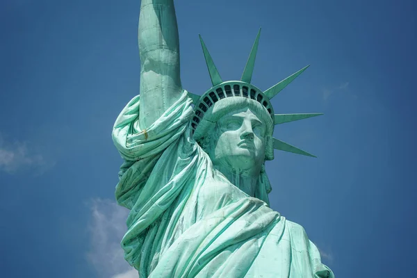
[[[191,122],[193,138],[215,165],[256,174],[264,172],[266,160],[274,158],[274,149],[313,156],[292,145],[272,138],[275,124],[292,122],[322,114],[274,114],[270,99],[299,76],[307,67],[264,92],[250,83],[258,49],[260,31],[240,81],[225,81],[208,53],[201,36],[204,57],[213,87],[204,95],[189,93],[195,104]]]

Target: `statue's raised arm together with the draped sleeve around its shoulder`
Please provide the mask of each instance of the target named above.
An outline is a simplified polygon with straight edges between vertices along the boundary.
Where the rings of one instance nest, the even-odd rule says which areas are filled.
[[[158,158],[185,131],[193,113],[187,92],[181,88],[173,0],[141,1],[138,44],[140,95],[117,117],[112,134],[124,158],[115,195],[129,209],[145,196],[142,188]]]

